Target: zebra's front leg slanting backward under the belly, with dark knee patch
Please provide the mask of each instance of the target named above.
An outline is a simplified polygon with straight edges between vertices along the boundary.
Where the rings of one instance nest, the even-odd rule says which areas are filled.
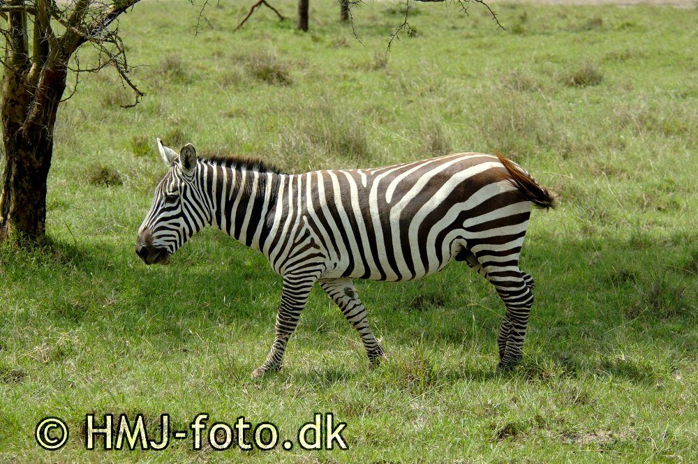
[[[380,359],[385,359],[383,348],[380,347],[378,340],[373,336],[371,327],[369,327],[369,321],[366,318],[366,308],[359,299],[359,294],[351,279],[320,280],[320,287],[334,300],[342,310],[344,317],[359,332],[371,367],[378,366]]]

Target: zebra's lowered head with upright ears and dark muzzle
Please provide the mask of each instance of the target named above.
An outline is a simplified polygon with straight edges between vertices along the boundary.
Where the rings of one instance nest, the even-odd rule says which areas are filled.
[[[186,144],[177,154],[157,141],[170,170],[155,189],[153,204],[138,229],[135,252],[145,264],[169,264],[170,255],[202,230],[211,216],[195,175],[194,147]]]

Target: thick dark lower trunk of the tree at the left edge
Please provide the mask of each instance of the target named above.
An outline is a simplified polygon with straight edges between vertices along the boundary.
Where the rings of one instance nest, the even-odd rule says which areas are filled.
[[[6,164],[0,193],[0,240],[40,243],[46,230],[46,181],[53,130],[67,69],[61,62],[47,63],[36,87],[26,77],[27,73],[9,68],[3,75]]]

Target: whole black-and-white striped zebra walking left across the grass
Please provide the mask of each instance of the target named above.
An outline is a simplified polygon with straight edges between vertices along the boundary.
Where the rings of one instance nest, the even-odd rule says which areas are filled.
[[[170,170],[138,230],[146,264],[170,255],[205,225],[267,257],[283,276],[275,338],[254,377],[281,368],[283,353],[319,283],[359,332],[371,367],[384,357],[354,278],[414,280],[465,261],[506,306],[497,343],[508,370],[521,359],[533,278],[519,269],[531,206],[554,198],[500,155],[461,153],[375,169],[284,174],[257,160],[177,154],[158,139]]]

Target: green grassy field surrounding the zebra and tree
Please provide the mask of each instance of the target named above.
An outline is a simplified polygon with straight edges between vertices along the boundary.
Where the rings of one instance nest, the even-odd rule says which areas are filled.
[[[297,33],[250,2],[146,2],[121,21],[134,80],[80,77],[59,112],[52,246],[0,250],[0,462],[540,462],[698,459],[698,47],[695,8],[497,3],[357,10],[329,0]],[[276,2],[295,13],[292,2]],[[83,52],[87,61],[90,53]],[[281,279],[205,230],[146,267],[135,234],[165,172],[155,137],[283,169],[368,167],[501,151],[560,195],[535,211],[522,269],[537,282],[523,364],[494,368],[503,305],[462,264],[415,283],[359,282],[389,361],[316,289],[281,373],[252,380]],[[84,415],[244,415],[294,438],[313,412],[348,451],[87,451]],[[65,447],[34,428],[61,417]],[[100,419],[101,420],[101,419]],[[155,434],[155,433],[154,433]]]

